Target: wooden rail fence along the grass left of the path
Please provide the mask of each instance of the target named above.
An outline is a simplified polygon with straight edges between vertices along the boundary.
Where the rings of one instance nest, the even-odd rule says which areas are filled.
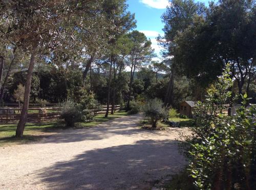
[[[60,116],[61,107],[30,107],[28,109],[28,121],[45,121],[46,119],[58,119]],[[110,105],[109,113],[111,112],[112,106]],[[120,105],[115,105],[114,111],[119,111]],[[106,112],[106,105],[102,105],[101,110],[92,110],[95,115],[103,114]],[[9,121],[20,119],[20,109],[14,107],[3,107],[0,108],[0,121],[8,123]]]

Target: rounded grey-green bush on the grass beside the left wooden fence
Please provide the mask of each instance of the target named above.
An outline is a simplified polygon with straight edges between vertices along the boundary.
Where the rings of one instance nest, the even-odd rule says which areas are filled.
[[[71,100],[63,102],[61,105],[60,118],[64,119],[66,125],[73,127],[75,122],[82,120],[81,106]]]

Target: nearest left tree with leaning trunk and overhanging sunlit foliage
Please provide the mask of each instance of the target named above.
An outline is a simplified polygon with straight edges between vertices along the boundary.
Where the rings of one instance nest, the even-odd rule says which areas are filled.
[[[27,120],[29,94],[34,63],[37,56],[49,50],[65,49],[65,34],[74,32],[75,22],[72,19],[81,13],[93,14],[98,4],[77,1],[4,1],[1,4],[0,31],[10,43],[29,53],[28,68],[22,116],[17,125],[16,137],[23,137]],[[98,10],[98,9],[97,9]],[[89,18],[92,18],[89,17]],[[49,56],[51,57],[51,56]]]

